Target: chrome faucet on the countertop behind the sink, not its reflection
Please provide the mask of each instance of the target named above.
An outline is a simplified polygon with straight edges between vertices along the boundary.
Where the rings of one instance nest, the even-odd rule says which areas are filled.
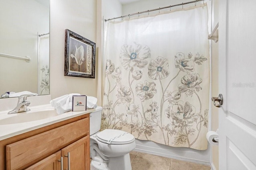
[[[9,111],[8,114],[30,111],[30,109],[27,109],[27,106],[30,105],[30,102],[27,101],[27,96],[33,96],[33,95],[24,94],[20,96],[18,99],[17,106],[12,111]]]

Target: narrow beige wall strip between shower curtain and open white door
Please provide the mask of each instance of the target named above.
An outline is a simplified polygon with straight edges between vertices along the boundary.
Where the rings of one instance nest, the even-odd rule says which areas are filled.
[[[213,10],[213,28],[218,23],[218,0],[212,1],[212,10]],[[215,35],[215,34],[214,34]],[[218,96],[218,42],[214,43],[212,41],[212,96]],[[218,129],[218,108],[212,105],[212,131]],[[219,168],[219,152],[218,146],[212,146],[212,165],[218,170]]]

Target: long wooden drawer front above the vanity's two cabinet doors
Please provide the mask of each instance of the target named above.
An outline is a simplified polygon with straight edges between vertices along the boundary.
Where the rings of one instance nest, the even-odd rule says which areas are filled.
[[[50,152],[89,135],[89,118],[84,118],[33,137],[6,145],[7,169],[23,169]]]

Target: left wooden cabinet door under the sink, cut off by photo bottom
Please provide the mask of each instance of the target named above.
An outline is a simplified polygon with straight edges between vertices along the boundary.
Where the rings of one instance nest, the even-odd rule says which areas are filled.
[[[26,168],[25,170],[60,170],[60,160],[61,152],[52,154],[43,160],[40,160],[36,164]]]

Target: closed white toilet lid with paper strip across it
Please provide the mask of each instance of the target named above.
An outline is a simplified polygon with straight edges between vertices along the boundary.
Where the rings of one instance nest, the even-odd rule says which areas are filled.
[[[128,144],[135,140],[132,134],[116,129],[105,129],[98,133],[96,138],[100,142],[114,145]]]

